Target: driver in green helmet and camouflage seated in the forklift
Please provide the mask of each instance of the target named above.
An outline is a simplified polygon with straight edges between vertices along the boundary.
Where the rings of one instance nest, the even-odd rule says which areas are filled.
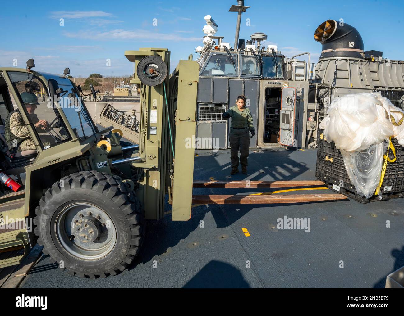
[[[23,105],[26,107],[32,123],[34,123],[38,132],[46,132],[45,128],[49,128],[49,123],[44,119],[38,119],[38,116],[34,114],[36,106],[39,105],[38,97],[35,94],[29,94],[28,92],[21,93]],[[25,151],[36,149],[34,142],[29,136],[29,132],[25,122],[21,116],[19,109],[14,110],[8,114],[5,122],[4,138],[10,148],[10,151]],[[50,142],[42,142],[45,146],[48,146]]]

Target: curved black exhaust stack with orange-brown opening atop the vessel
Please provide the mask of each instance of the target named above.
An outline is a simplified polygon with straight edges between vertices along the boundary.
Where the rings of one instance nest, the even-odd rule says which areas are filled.
[[[320,24],[314,32],[314,40],[322,44],[319,59],[364,58],[363,40],[355,27],[335,20],[328,20]]]

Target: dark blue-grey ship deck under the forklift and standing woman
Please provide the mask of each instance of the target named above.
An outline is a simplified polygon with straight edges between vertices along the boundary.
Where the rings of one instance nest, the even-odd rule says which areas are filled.
[[[228,150],[197,154],[194,180],[315,180],[316,149],[250,151],[248,174],[234,176]],[[257,188],[195,188],[194,194],[269,191],[282,194]],[[307,193],[334,192],[315,187],[287,194]],[[70,276],[42,255],[21,287],[383,288],[386,276],[404,266],[403,202],[194,205],[187,222],[171,221],[167,204],[163,220],[146,221],[141,255],[118,276]],[[284,216],[310,219],[310,231],[276,228]]]

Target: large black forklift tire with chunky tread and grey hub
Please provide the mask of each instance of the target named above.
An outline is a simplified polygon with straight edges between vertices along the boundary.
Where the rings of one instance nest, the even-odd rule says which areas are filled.
[[[62,178],[46,191],[35,213],[42,252],[82,278],[122,272],[143,243],[144,211],[135,192],[106,173]]]

